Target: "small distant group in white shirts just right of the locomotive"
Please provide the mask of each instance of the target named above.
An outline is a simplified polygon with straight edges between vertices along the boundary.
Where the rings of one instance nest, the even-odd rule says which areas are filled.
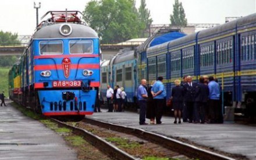
[[[106,104],[108,105],[108,112],[122,112],[125,111],[126,93],[123,87],[115,86],[112,89],[109,85],[106,90]]]

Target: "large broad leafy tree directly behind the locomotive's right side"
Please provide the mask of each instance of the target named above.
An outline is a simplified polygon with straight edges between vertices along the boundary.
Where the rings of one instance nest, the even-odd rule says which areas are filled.
[[[137,38],[143,30],[134,0],[93,0],[84,9],[84,20],[102,43],[117,43]]]

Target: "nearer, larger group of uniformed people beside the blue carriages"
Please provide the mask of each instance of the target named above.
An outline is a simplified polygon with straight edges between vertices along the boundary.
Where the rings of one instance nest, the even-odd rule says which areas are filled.
[[[161,124],[163,108],[166,105],[166,90],[162,83],[163,77],[152,81],[146,88],[147,81],[141,80],[137,90],[140,106],[140,125]],[[223,123],[221,108],[221,88],[214,77],[201,76],[199,82],[192,81],[191,76],[184,76],[183,82],[175,80],[172,88],[172,108],[175,121],[173,123]]]

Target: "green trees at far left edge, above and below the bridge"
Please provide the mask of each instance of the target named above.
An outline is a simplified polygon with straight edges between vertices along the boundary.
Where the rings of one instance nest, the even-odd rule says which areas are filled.
[[[0,31],[0,46],[19,45],[18,35],[10,32]],[[16,56],[1,56],[0,66],[12,66],[17,61]]]

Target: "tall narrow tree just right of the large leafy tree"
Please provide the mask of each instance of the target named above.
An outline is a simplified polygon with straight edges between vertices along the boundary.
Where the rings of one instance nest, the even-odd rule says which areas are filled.
[[[150,18],[150,10],[146,8],[146,2],[145,0],[140,1],[140,8],[138,8],[138,16],[140,19],[140,22],[142,22],[142,28],[144,32],[141,32],[140,37],[148,37],[148,35],[145,35],[145,30],[150,27],[153,20]]]

